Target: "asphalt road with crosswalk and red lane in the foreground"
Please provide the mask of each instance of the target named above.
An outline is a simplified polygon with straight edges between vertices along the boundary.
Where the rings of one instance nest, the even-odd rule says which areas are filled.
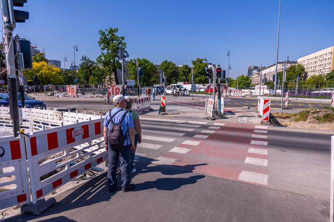
[[[329,219],[329,134],[223,120],[140,118],[143,141],[133,191],[109,193],[102,174],[59,194],[41,215],[8,221]]]

